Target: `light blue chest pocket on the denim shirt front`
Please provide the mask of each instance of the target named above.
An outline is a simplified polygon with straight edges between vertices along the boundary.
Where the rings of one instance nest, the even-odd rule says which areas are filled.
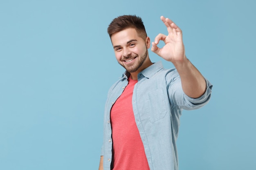
[[[137,104],[139,114],[146,119],[149,118],[152,123],[164,118],[167,113],[162,88],[143,94]]]

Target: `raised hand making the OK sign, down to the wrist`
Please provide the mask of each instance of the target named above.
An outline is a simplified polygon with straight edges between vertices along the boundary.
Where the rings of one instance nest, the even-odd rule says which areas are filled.
[[[164,58],[164,60],[170,62],[183,62],[186,59],[184,44],[182,41],[182,31],[181,29],[170,19],[164,18],[160,19],[164,22],[167,27],[168,35],[158,34],[155,37],[155,42],[152,42],[151,51]],[[159,41],[164,41],[165,45],[160,49],[157,44]]]

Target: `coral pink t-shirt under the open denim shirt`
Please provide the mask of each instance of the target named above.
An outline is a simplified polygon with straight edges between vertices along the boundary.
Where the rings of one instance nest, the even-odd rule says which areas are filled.
[[[132,92],[138,82],[128,79],[124,92],[112,106],[112,170],[149,170],[144,146],[132,110]]]

